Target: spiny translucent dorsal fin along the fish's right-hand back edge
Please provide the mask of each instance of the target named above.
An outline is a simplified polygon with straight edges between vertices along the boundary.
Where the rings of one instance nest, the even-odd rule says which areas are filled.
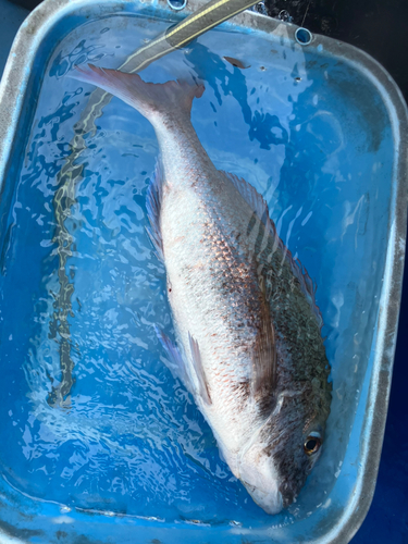
[[[231,174],[230,172],[224,172],[222,170],[220,172],[224,174],[235,185],[235,187],[238,189],[245,201],[248,202],[252,211],[258,215],[260,221],[262,221],[267,232],[269,232],[270,235],[273,237],[274,245],[276,246],[276,248],[281,249],[286,262],[290,267],[292,273],[299,281],[301,292],[304,293],[306,299],[308,300],[309,306],[313,314],[316,316],[318,324],[321,329],[323,325],[323,319],[320,309],[316,304],[316,297],[314,297],[316,286],[313,285],[312,280],[310,279],[307,270],[301,264],[301,262],[298,259],[293,258],[292,252],[287,249],[285,244],[279,237],[275,224],[270,219],[269,215],[268,203],[263,199],[262,195],[260,195],[252,185],[250,185],[242,177],[238,177],[235,174]]]

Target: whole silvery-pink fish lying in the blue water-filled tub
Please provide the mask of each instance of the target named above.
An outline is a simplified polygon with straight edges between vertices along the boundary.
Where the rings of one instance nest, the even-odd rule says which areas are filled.
[[[267,514],[287,508],[319,459],[331,367],[316,288],[254,186],[218,170],[193,127],[197,82],[76,66],[134,107],[160,149],[147,227],[166,271],[176,342],[157,334],[233,474]]]

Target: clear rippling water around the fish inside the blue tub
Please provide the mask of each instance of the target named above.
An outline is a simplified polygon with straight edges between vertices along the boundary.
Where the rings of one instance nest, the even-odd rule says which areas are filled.
[[[38,500],[254,527],[270,517],[220,457],[154,332],[174,334],[146,233],[159,150],[150,123],[113,99],[85,135],[77,183],[59,174],[94,90],[66,74],[85,62],[116,67],[165,27],[141,22],[88,23],[47,66],[2,239],[1,471]],[[387,149],[360,129],[363,104],[342,95],[334,64],[300,46],[262,39],[251,49],[245,35],[217,30],[141,75],[203,82],[191,111],[199,140],[218,169],[263,196],[318,286],[332,413],[305,490],[274,518],[290,522],[324,503],[347,447],[384,264],[375,232],[386,221]]]

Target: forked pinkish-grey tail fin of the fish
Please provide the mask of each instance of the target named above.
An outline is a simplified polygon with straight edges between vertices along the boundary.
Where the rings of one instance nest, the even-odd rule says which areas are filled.
[[[203,85],[186,81],[145,83],[138,74],[101,69],[88,64],[75,66],[75,78],[100,87],[135,108],[150,122],[157,114],[186,113],[189,116],[194,98],[200,98]]]

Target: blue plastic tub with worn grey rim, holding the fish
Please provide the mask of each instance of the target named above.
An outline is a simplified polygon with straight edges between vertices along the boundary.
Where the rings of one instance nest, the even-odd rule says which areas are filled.
[[[296,27],[249,12],[143,73],[205,82],[193,109],[205,148],[262,193],[318,285],[325,448],[296,504],[271,517],[162,362],[153,325],[171,334],[171,319],[145,232],[151,126],[113,99],[66,166],[94,90],[73,66],[116,67],[181,16],[157,2],[47,1],[5,67],[1,542],[344,543],[369,508],[405,249],[404,102],[361,51],[300,45]]]

